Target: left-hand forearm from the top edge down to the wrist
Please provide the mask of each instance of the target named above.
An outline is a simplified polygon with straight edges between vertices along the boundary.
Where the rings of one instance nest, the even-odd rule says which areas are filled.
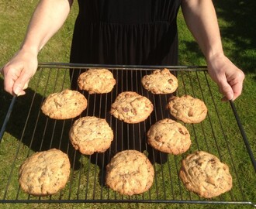
[[[21,50],[37,54],[64,24],[71,3],[70,0],[41,0],[30,19]]]

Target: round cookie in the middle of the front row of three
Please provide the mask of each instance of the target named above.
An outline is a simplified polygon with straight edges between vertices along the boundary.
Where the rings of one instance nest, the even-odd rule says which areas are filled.
[[[119,194],[141,194],[150,189],[154,168],[147,156],[137,150],[124,150],[106,166],[106,185]]]

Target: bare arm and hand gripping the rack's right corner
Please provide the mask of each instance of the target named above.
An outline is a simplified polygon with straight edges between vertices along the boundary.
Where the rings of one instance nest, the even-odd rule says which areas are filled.
[[[223,53],[212,0],[182,0],[185,22],[206,57],[209,75],[225,99],[234,100],[242,91],[244,73]]]

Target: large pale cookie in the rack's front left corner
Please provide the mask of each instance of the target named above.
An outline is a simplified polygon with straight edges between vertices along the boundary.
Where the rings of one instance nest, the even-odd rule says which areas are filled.
[[[70,170],[68,156],[61,150],[35,152],[19,168],[19,185],[34,196],[56,194],[65,187]]]

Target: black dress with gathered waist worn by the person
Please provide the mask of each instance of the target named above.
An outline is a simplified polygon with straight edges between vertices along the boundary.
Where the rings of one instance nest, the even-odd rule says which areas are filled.
[[[181,0],[78,0],[78,4],[71,63],[178,63],[176,18]],[[78,76],[77,70],[71,70],[74,89]],[[119,149],[112,149],[110,156]]]

